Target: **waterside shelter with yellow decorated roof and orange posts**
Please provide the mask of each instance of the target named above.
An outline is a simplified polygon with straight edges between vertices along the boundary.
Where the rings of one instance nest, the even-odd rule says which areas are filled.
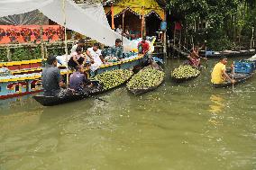
[[[127,26],[135,38],[155,35],[160,22],[165,20],[165,11],[156,0],[119,0],[105,6],[105,13],[112,29]]]

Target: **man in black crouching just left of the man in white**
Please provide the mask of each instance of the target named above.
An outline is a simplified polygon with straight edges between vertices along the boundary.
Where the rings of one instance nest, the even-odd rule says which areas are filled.
[[[71,54],[71,58],[69,59],[68,66],[71,69],[75,69],[78,65],[84,66],[87,58],[82,54],[83,49],[78,46],[76,52]]]

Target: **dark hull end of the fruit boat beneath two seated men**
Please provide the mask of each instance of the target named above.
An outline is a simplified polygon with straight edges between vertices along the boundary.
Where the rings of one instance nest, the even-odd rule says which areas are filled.
[[[59,96],[45,96],[45,95],[35,95],[32,98],[36,100],[38,103],[41,103],[43,106],[53,106],[61,103],[70,103],[79,101],[85,98],[88,98],[92,95],[103,93],[103,85],[99,83],[94,83],[94,87],[85,88],[82,93],[74,94],[70,90],[62,90]]]

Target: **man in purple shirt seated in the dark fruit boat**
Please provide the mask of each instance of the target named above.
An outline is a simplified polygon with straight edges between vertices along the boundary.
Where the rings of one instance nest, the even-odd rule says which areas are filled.
[[[78,65],[76,67],[76,72],[72,73],[69,77],[69,87],[73,90],[75,90],[77,93],[81,93],[84,89],[84,86],[90,84],[90,81],[87,79],[87,76],[85,75],[84,67],[81,65]]]

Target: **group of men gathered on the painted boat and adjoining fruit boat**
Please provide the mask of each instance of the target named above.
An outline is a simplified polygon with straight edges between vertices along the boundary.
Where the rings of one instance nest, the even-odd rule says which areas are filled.
[[[138,45],[139,53],[147,55],[149,49],[150,45],[144,37]],[[72,47],[70,56],[68,67],[74,72],[69,76],[69,89],[73,92],[81,93],[85,86],[91,87],[93,85],[88,81],[84,68],[94,71],[108,60],[120,60],[123,58],[122,40],[115,40],[115,45],[110,48],[110,56],[105,58],[101,53],[101,49],[99,49],[98,43],[95,43],[91,48],[85,49],[85,40],[79,40]],[[64,84],[60,70],[57,67],[57,58],[50,55],[47,63],[49,66],[42,71],[44,95],[55,96],[59,94],[60,88],[66,88],[67,85]]]

